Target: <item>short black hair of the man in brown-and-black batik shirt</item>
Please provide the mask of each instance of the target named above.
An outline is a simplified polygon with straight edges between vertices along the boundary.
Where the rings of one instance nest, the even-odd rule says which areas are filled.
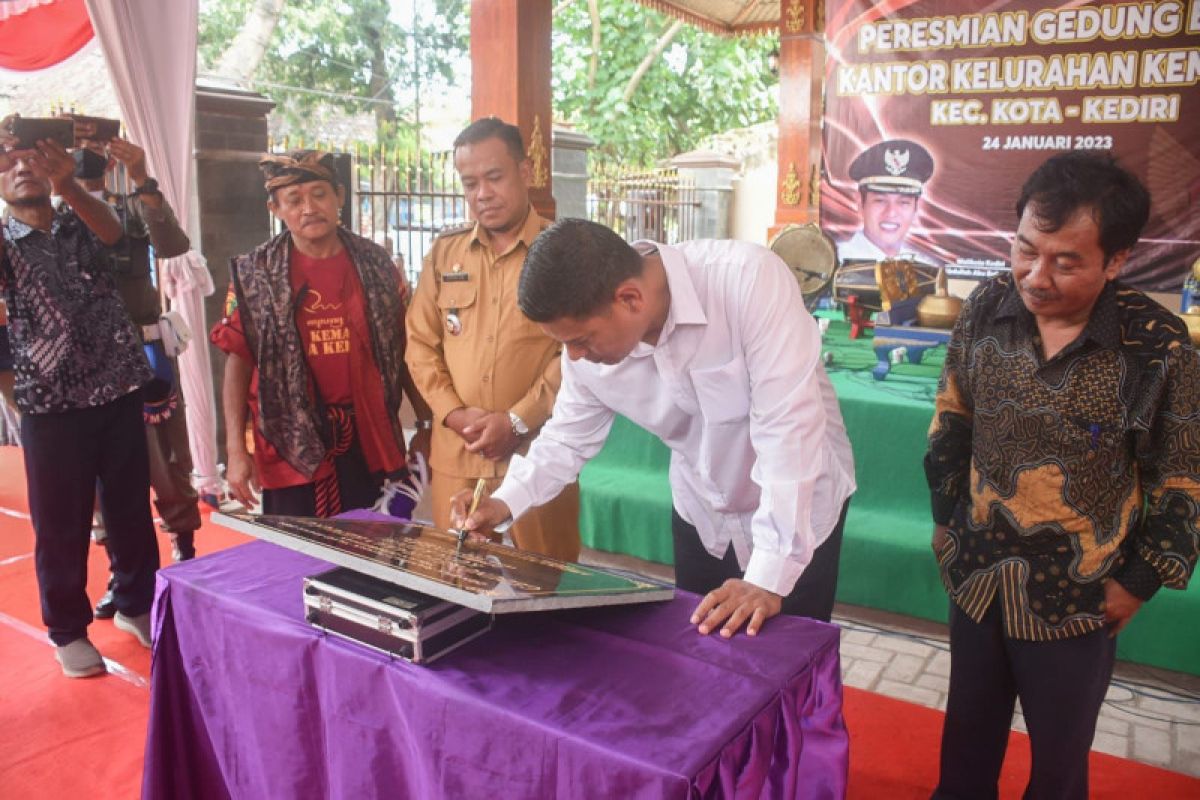
[[[1038,228],[1061,229],[1079,211],[1091,211],[1108,261],[1138,243],[1150,218],[1150,192],[1109,152],[1072,150],[1033,170],[1016,200],[1016,218],[1032,203]]]

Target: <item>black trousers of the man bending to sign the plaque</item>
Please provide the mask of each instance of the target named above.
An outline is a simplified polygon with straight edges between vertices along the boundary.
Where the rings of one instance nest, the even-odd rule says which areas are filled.
[[[846,527],[850,500],[841,506],[838,525],[829,537],[812,553],[812,560],[796,582],[792,593],[784,597],[781,613],[808,616],[824,622],[833,616],[834,595],[838,593],[838,559],[841,557],[841,535]],[[697,595],[707,595],[730,578],[740,578],[742,567],[733,545],[725,558],[715,558],[704,549],[700,534],[671,510],[671,536],[674,539],[676,587]]]

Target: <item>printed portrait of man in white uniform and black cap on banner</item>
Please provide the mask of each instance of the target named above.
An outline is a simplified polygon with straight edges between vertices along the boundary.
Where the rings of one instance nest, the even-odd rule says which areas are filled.
[[[850,164],[850,178],[858,181],[863,227],[838,245],[838,259],[912,258],[937,266],[937,259],[907,241],[920,193],[932,174],[929,150],[908,139],[888,139],[860,152]]]

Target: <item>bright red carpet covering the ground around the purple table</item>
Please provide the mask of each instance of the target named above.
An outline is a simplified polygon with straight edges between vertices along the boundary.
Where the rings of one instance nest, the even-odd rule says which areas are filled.
[[[137,798],[150,652],[112,622],[97,621],[90,638],[127,670],[125,678],[62,678],[41,624],[28,509],[20,451],[0,447],[0,798]],[[196,547],[203,557],[242,541],[246,537],[205,519]],[[160,545],[162,563],[169,564],[166,536]],[[104,553],[94,547],[88,584],[92,600],[103,593],[107,578]],[[929,796],[937,780],[941,712],[847,688],[846,723],[851,798]],[[1002,798],[1020,796],[1028,763],[1028,739],[1014,733]],[[1200,781],[1092,753],[1092,796],[1200,798]]]

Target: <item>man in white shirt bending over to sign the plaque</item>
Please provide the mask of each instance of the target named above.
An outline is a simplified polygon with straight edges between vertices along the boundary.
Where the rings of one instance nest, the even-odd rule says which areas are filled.
[[[616,414],[671,449],[676,584],[701,633],[779,613],[828,620],[854,467],[821,337],[784,263],[757,245],[638,243],[563,219],[529,248],[524,314],[564,345],[554,410],[466,517],[484,531],[546,503]]]

